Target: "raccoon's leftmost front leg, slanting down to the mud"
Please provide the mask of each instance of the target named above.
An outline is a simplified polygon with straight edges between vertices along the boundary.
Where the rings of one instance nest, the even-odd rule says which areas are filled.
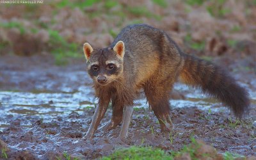
[[[110,101],[109,97],[102,97],[99,99],[99,105],[95,109],[95,113],[92,118],[92,124],[90,125],[85,135],[86,139],[92,138],[93,133],[97,130],[100,124],[100,121],[102,120],[103,116],[105,115],[108,109],[109,101]]]

